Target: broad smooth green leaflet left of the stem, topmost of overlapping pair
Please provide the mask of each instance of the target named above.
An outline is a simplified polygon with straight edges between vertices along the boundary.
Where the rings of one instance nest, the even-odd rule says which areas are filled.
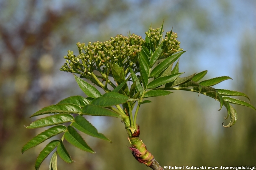
[[[105,93],[101,97],[95,98],[92,102],[91,105],[96,105],[96,106],[102,106],[102,107],[109,107],[109,106],[114,106],[117,104],[123,104],[128,101],[134,101],[133,99],[130,99],[128,96],[115,93],[115,92],[108,92]]]

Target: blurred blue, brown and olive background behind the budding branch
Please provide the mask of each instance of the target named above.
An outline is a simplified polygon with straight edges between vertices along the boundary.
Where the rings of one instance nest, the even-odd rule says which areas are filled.
[[[181,71],[190,75],[207,69],[208,78],[228,75],[234,80],[217,87],[245,92],[255,106],[255,7],[254,0],[0,0],[0,170],[33,169],[45,144],[21,155],[22,146],[39,132],[24,128],[33,121],[29,116],[65,97],[83,95],[73,75],[59,71],[67,50],[76,51],[78,41],[105,41],[129,31],[145,37],[150,24],[160,27],[163,19],[165,31],[173,27],[188,50]],[[162,166],[255,165],[254,111],[235,106],[238,122],[223,128],[226,112],[218,108],[213,99],[188,92],[158,97],[142,106],[141,138]],[[76,162],[59,160],[59,169],[148,169],[129,153],[121,122],[88,119],[113,143],[84,136],[97,153],[70,147]],[[46,159],[41,169],[48,164]]]

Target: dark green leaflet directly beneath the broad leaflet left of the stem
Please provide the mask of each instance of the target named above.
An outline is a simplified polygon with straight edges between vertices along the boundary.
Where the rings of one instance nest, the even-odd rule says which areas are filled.
[[[100,106],[91,105],[91,104],[86,105],[82,109],[82,114],[91,115],[91,116],[112,116],[112,117],[120,118],[120,115],[117,114],[116,112],[113,112],[109,109],[106,109]]]

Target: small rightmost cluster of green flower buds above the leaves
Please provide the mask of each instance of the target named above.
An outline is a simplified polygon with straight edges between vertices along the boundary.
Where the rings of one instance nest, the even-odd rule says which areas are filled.
[[[178,51],[183,51],[183,49],[180,48],[180,41],[178,41],[177,33],[174,32],[166,32],[165,39],[164,39],[164,45],[167,47],[167,51],[165,52],[165,57],[168,57]],[[164,58],[165,58],[164,57]]]

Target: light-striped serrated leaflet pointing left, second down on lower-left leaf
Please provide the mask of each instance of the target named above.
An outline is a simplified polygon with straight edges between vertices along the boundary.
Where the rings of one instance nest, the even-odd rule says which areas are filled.
[[[55,114],[55,115],[51,115],[51,116],[33,121],[26,128],[27,129],[42,128],[45,126],[57,125],[57,124],[62,124],[70,121],[74,121],[74,117],[70,114]]]

